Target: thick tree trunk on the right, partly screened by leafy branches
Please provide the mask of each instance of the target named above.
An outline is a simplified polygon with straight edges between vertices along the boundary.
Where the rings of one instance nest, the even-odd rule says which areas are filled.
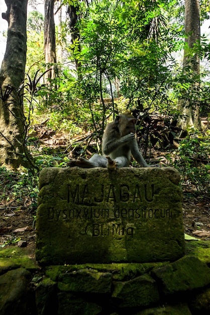
[[[183,58],[183,71],[190,66],[192,78],[191,93],[188,99],[181,100],[180,105],[185,119],[182,120],[181,128],[187,130],[199,126],[199,106],[196,93],[199,90],[200,64],[199,56],[188,54],[188,47],[193,48],[195,43],[200,42],[200,8],[199,0],[185,0],[185,43]],[[187,47],[188,46],[188,47]],[[186,70],[185,72],[188,72]],[[193,97],[195,95],[195,97]]]

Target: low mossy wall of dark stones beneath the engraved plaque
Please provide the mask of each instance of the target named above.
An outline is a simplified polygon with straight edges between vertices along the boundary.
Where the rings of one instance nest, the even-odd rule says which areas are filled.
[[[187,255],[173,263],[54,265],[42,269],[36,263],[30,265],[25,256],[18,267],[21,259],[16,249],[22,251],[11,247],[10,258],[9,251],[5,259],[0,258],[1,315],[210,313],[209,241],[188,242]]]

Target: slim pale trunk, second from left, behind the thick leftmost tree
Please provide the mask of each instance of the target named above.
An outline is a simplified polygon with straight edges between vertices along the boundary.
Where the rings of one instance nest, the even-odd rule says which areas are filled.
[[[55,0],[45,0],[44,18],[44,51],[47,69],[45,80],[55,78],[56,48],[55,48],[55,22],[54,22],[54,3]]]

